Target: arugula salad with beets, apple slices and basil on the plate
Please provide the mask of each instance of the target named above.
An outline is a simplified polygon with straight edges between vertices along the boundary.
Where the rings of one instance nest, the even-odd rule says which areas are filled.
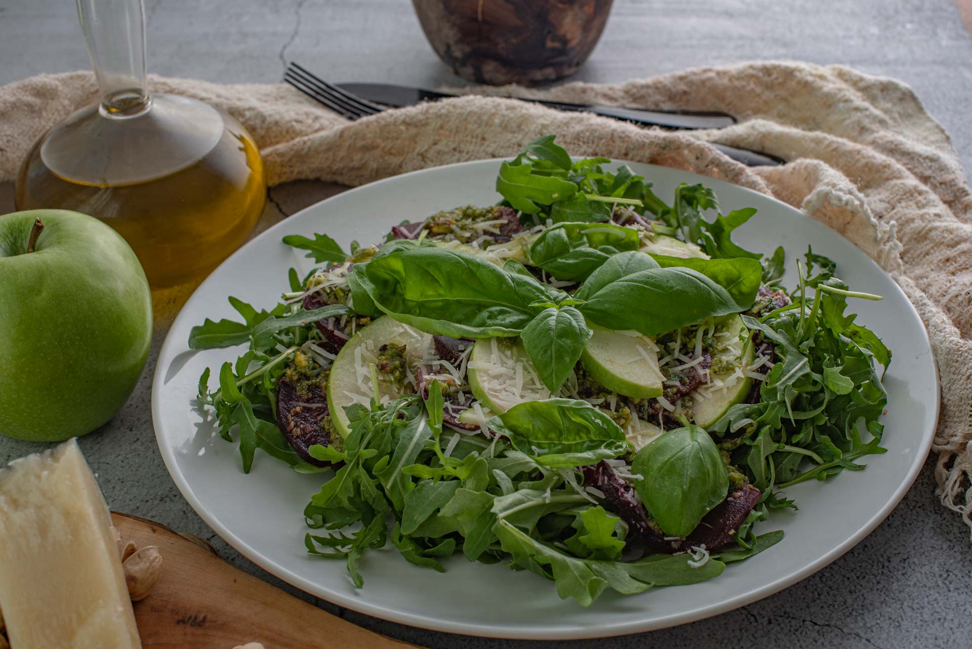
[[[497,205],[348,250],[284,237],[317,267],[192,328],[192,349],[248,345],[198,401],[244,471],[260,449],[321,474],[306,549],[357,586],[389,540],[582,605],[712,579],[781,541],[761,528],[788,488],[884,453],[890,352],[847,313],[880,297],[811,250],[786,290],[781,248],[732,240],[755,210],[702,185],[669,204],[609,162],[545,136],[500,165]]]

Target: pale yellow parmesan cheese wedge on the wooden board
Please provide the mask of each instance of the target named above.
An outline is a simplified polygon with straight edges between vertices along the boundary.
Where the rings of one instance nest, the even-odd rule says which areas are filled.
[[[11,646],[142,646],[118,536],[74,439],[0,469],[0,608]]]

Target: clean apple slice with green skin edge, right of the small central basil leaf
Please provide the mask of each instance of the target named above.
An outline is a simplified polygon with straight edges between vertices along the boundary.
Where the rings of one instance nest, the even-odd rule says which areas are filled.
[[[662,393],[665,376],[658,369],[658,348],[637,331],[595,328],[580,362],[595,381],[612,392],[634,398]]]

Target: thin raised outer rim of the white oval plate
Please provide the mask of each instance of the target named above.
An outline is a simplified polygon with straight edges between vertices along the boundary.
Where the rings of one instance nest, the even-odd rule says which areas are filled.
[[[226,259],[219,266],[217,266],[217,268],[215,268],[206,277],[206,279],[203,280],[198,287],[196,287],[195,290],[192,291],[191,295],[189,296],[189,298],[187,298],[183,307],[180,308],[179,313],[176,315],[172,323],[169,325],[169,329],[168,331],[166,331],[165,334],[165,339],[163,340],[162,345],[158,351],[158,356],[156,358],[156,367],[155,370],[153,371],[152,421],[153,421],[153,428],[156,433],[156,446],[158,447],[158,451],[162,457],[162,461],[165,463],[165,468],[168,471],[169,476],[172,478],[172,481],[179,489],[180,494],[190,504],[192,510],[202,519],[202,521],[210,529],[213,529],[213,531],[219,534],[220,537],[226,541],[226,543],[228,543],[234,550],[239,552],[244,558],[246,558],[247,561],[260,566],[260,568],[262,568],[263,570],[266,570],[270,574],[287,582],[288,584],[303,591],[304,593],[308,593],[310,595],[313,595],[314,597],[326,599],[330,601],[330,603],[336,604],[338,606],[342,606],[344,608],[349,608],[351,610],[354,610],[359,613],[363,613],[365,615],[370,615],[372,617],[388,620],[390,622],[395,622],[397,624],[402,624],[402,625],[415,627],[419,629],[426,629],[435,632],[448,632],[448,633],[456,633],[456,634],[474,635],[479,637],[497,637],[497,638],[506,638],[506,639],[568,640],[568,639],[589,639],[589,638],[598,638],[598,637],[610,637],[610,636],[617,636],[617,635],[627,635],[631,633],[667,629],[682,624],[688,624],[691,622],[704,620],[728,612],[730,610],[734,610],[736,608],[739,608],[740,606],[745,606],[746,604],[753,603],[760,599],[767,598],[771,595],[779,593],[781,590],[789,586],[792,586],[800,581],[803,581],[804,579],[811,576],[812,574],[819,571],[820,569],[826,567],[829,564],[832,564],[834,561],[836,561],[837,559],[845,555],[848,551],[850,551],[851,548],[853,548],[855,545],[860,543],[868,534],[870,534],[882,522],[884,522],[885,518],[887,518],[887,516],[897,507],[897,505],[901,502],[901,499],[904,497],[905,494],[908,493],[912,485],[915,483],[915,480],[918,478],[918,474],[920,473],[921,467],[926,461],[928,454],[931,450],[931,444],[934,438],[935,430],[938,427],[938,421],[941,414],[941,377],[939,375],[938,363],[934,358],[934,354],[929,355],[932,364],[932,370],[933,370],[932,373],[934,378],[934,393],[937,395],[937,398],[934,399],[934,406],[933,406],[933,410],[934,410],[933,417],[932,417],[933,425],[930,427],[929,431],[926,432],[924,436],[920,439],[920,442],[917,445],[915,459],[912,461],[912,464],[909,467],[908,472],[904,476],[901,483],[898,485],[898,487],[894,490],[894,492],[890,495],[888,500],[885,502],[885,505],[883,505],[870,518],[868,518],[866,522],[860,525],[860,527],[853,534],[851,534],[851,536],[848,537],[844,542],[830,549],[826,554],[816,559],[816,561],[804,565],[798,570],[795,570],[783,577],[780,577],[779,579],[773,582],[764,584],[756,589],[747,591],[746,593],[734,595],[731,598],[720,600],[717,603],[688,608],[677,614],[668,615],[663,618],[656,618],[651,621],[639,622],[636,620],[630,622],[613,623],[606,627],[602,627],[602,626],[573,627],[573,628],[563,628],[560,631],[551,631],[549,628],[541,629],[541,627],[539,626],[511,628],[511,627],[500,627],[497,625],[472,624],[467,622],[450,622],[447,620],[443,620],[442,618],[426,617],[417,613],[391,609],[386,606],[371,603],[360,598],[355,598],[350,595],[331,591],[330,589],[322,587],[319,584],[315,584],[312,580],[307,579],[302,575],[297,574],[294,571],[280,564],[276,564],[274,561],[263,556],[259,551],[255,550],[250,545],[248,545],[245,541],[243,541],[239,536],[233,533],[230,529],[226,528],[226,526],[223,525],[218,520],[215,513],[212,512],[207,506],[205,506],[192,492],[191,487],[188,484],[185,475],[182,473],[181,470],[179,470],[178,464],[174,456],[174,448],[171,445],[162,443],[162,432],[161,432],[162,425],[160,425],[159,423],[164,421],[164,418],[162,417],[162,412],[161,412],[160,393],[162,389],[160,388],[160,386],[164,385],[164,372],[163,372],[163,365],[160,362],[160,360],[165,358],[166,356],[169,356],[168,353],[170,351],[170,347],[175,347],[176,345],[180,344],[175,341],[174,337],[172,336],[172,332],[176,328],[178,328],[177,325],[180,325],[183,319],[189,318],[189,315],[185,309],[186,304],[189,304],[191,299],[195,296],[196,292],[203,289],[203,287],[206,287],[210,282],[212,282],[217,272],[224,265],[226,265],[231,260],[233,260],[236,256],[243,255],[248,248],[256,245],[260,239],[271,236],[271,233],[284,229],[285,225],[291,222],[291,220],[294,217],[300,216],[304,212],[307,212],[309,210],[315,210],[323,203],[326,203],[339,196],[347,196],[349,194],[353,194],[356,192],[370,190],[384,183],[398,180],[403,176],[417,177],[429,173],[434,173],[442,169],[480,165],[487,162],[499,164],[500,162],[503,161],[503,159],[504,158],[484,158],[478,160],[467,160],[464,162],[454,162],[451,164],[438,165],[434,167],[427,167],[424,169],[405,172],[395,176],[389,176],[387,178],[373,181],[371,183],[358,186],[356,188],[350,188],[345,191],[341,191],[334,195],[328,196],[323,200],[308,205],[307,207],[295,212],[295,214],[290,215],[289,217],[283,219],[282,221],[277,222],[271,225],[270,227],[268,227],[267,229],[265,229],[264,231],[260,232],[260,234],[255,236],[250,241],[246,242],[243,246],[241,246],[236,251],[234,251],[230,256],[227,256]],[[698,174],[695,172],[684,171],[682,169],[677,169],[676,167],[666,167],[664,165],[651,164],[647,162],[635,162],[629,160],[612,160],[612,164],[626,164],[626,163],[667,169],[669,171],[675,171],[679,174],[685,174],[686,176],[697,178],[700,181],[705,183],[710,183],[710,184],[716,183],[718,185],[727,185],[735,189],[741,189],[744,192],[751,193],[755,196],[758,196],[759,200],[769,200],[771,202],[777,203],[779,206],[781,206],[786,210],[794,210],[796,212],[799,212],[806,219],[809,219],[813,222],[817,222],[812,217],[804,213],[802,210],[782,202],[780,199],[776,198],[775,196],[771,196],[769,194],[756,191],[755,189],[736,185],[734,183],[730,183],[722,179],[712,178],[710,176],[705,176],[703,174]],[[828,227],[825,223],[820,223],[820,225],[823,225],[824,227]],[[828,227],[828,229],[830,229],[831,232],[833,232],[837,236],[847,239],[847,237],[845,237],[841,232],[830,227]],[[894,280],[892,276],[886,273],[885,270],[881,268],[881,266],[879,266],[877,262],[874,261],[874,259],[868,256],[863,250],[858,248],[852,242],[850,242],[850,240],[848,241],[849,243],[851,243],[851,245],[854,246],[854,248],[858,252],[860,252],[862,256],[864,256],[867,259],[867,262],[874,265],[879,272],[885,274],[890,279],[891,285],[894,287],[894,290],[900,293],[900,297],[904,299],[905,303],[908,305],[909,317],[913,317],[914,319],[916,319],[918,324],[920,325],[920,331],[922,334],[922,338],[920,342],[926,345],[928,349],[931,349],[931,341],[928,337],[927,327],[921,321],[918,310],[915,308],[915,305],[912,304],[911,300],[908,299],[908,296],[904,292],[904,290],[898,285],[898,283]],[[231,349],[231,348],[227,348],[227,349]]]

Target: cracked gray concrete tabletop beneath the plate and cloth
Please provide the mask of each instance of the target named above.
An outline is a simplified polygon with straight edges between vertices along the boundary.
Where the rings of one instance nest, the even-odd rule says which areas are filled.
[[[295,59],[333,80],[460,83],[435,58],[405,0],[147,0],[150,69],[217,82],[274,82]],[[621,82],[748,59],[848,63],[912,85],[972,163],[972,41],[949,0],[615,0],[601,45],[576,79]],[[70,0],[0,0],[0,84],[87,68]],[[339,188],[294,183],[271,192],[261,226]],[[13,209],[0,185],[0,214]],[[295,593],[213,534],[176,490],[156,451],[151,371],[119,416],[81,440],[112,507],[208,538],[233,564]],[[2,344],[2,341],[0,341]],[[0,461],[43,448],[0,440]],[[934,495],[929,460],[870,536],[803,582],[745,608],[675,629],[558,646],[964,647],[972,645],[969,530]],[[825,523],[824,523],[825,524]],[[427,632],[321,606],[420,645],[550,646]],[[276,648],[271,648],[276,649]]]

